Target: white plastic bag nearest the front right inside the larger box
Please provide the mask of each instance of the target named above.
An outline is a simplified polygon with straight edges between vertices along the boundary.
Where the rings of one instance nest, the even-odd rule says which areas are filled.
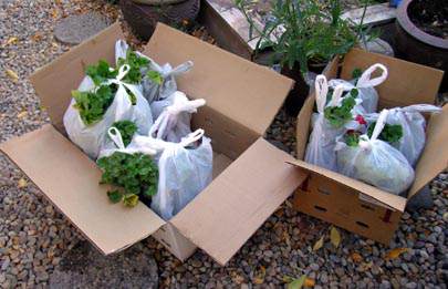
[[[195,143],[201,141],[200,145]],[[179,213],[211,182],[212,149],[204,130],[197,130],[180,143],[169,143],[147,136],[135,136],[131,147],[158,151],[158,189],[152,208],[168,220]]]

